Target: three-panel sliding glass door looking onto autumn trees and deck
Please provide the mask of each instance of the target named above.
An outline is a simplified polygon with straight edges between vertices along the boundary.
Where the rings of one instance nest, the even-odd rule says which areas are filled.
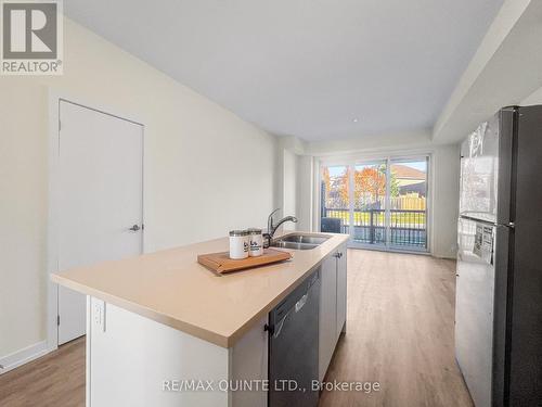
[[[321,230],[353,247],[427,251],[428,156],[322,166]]]

